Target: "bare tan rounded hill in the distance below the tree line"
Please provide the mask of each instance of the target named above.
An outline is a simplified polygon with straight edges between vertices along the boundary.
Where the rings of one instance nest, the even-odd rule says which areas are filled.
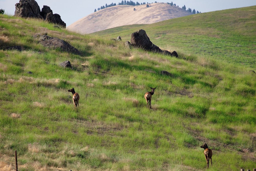
[[[133,9],[136,8],[134,11]],[[94,12],[67,27],[78,33],[93,33],[130,24],[151,24],[171,18],[191,15],[191,12],[166,3],[138,6],[117,5]]]

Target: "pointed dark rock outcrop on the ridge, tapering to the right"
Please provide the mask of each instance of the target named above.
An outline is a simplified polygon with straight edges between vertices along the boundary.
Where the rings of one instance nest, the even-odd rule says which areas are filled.
[[[125,45],[130,46],[129,43],[125,42]],[[150,41],[150,39],[148,38],[145,30],[142,30],[142,29],[132,33],[132,35],[131,35],[131,46],[138,47],[138,48],[143,48],[145,50],[161,53],[161,54],[164,54],[164,55],[170,55],[170,56],[178,57],[178,54],[177,54],[176,51],[173,51],[171,53],[167,50],[161,50],[158,46],[154,45]]]

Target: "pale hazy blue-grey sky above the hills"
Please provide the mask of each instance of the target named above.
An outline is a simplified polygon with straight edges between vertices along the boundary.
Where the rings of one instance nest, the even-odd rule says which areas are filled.
[[[152,3],[156,0],[132,0],[133,2],[139,3]],[[14,15],[15,4],[19,0],[0,0],[0,9],[5,10],[5,14]],[[36,0],[40,9],[44,5],[51,8],[54,14],[59,14],[61,19],[68,25],[73,22],[91,14],[94,9],[98,9],[105,4],[116,3],[118,4],[121,0],[94,0],[94,1],[84,1],[84,0]],[[195,9],[199,12],[209,12],[217,11],[230,8],[240,8],[256,5],[256,0],[163,0],[157,2],[173,2],[179,7],[186,6],[186,8]]]

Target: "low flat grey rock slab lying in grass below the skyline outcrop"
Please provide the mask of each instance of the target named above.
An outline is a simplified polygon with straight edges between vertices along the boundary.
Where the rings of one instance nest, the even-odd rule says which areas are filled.
[[[55,37],[49,37],[47,35],[42,35],[39,38],[39,42],[44,46],[44,47],[49,47],[49,48],[60,48],[63,51],[67,51],[76,55],[80,55],[80,52],[71,46],[69,43]]]

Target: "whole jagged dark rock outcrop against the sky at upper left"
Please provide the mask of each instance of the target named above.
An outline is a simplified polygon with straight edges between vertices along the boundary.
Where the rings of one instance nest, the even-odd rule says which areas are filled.
[[[24,18],[42,18],[48,22],[58,24],[66,28],[66,23],[63,22],[59,14],[53,14],[50,7],[44,5],[40,11],[35,0],[20,0],[19,3],[15,5],[15,14],[16,17]]]

